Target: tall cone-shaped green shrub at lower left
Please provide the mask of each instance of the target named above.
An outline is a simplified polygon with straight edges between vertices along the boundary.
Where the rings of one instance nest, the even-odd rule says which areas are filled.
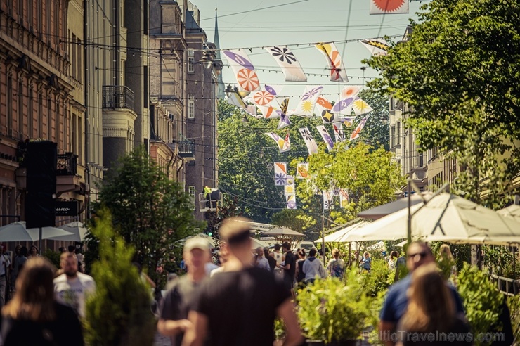
[[[100,211],[99,217],[92,229],[100,239],[100,259],[92,266],[96,293],[86,302],[86,340],[91,346],[151,346],[150,287],[131,264],[133,247],[115,235],[110,214]]]

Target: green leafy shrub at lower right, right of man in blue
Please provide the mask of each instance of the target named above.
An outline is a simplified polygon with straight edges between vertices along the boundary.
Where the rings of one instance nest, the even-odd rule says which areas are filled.
[[[464,264],[458,275],[457,290],[462,297],[466,317],[474,335],[501,330],[498,316],[504,297],[496,290],[485,271]],[[489,342],[474,341],[477,346],[489,345]]]

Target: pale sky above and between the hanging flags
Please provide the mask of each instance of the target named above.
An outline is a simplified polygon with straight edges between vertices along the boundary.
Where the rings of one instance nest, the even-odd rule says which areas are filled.
[[[190,0],[200,11],[201,26],[208,41],[214,40],[215,8],[219,15],[221,49],[249,49],[247,55],[256,68],[261,84],[283,84],[283,95],[292,96],[290,108],[296,105],[306,85],[323,85],[323,93],[331,101],[345,85],[362,85],[363,76],[377,77],[375,70],[361,70],[361,60],[370,58],[370,51],[356,40],[383,37],[400,39],[409,18],[417,19],[424,1],[411,1],[410,13],[370,15],[369,0]],[[282,6],[280,6],[282,5]],[[273,7],[275,6],[275,7]],[[271,8],[268,8],[271,7]],[[264,8],[264,9],[262,9]],[[235,14],[238,13],[238,14]],[[346,40],[351,40],[347,44]],[[336,43],[342,56],[349,82],[330,82],[326,60],[314,47],[323,41]],[[299,44],[299,45],[294,45]],[[288,45],[308,75],[308,81],[285,82],[273,57],[262,46]],[[228,65],[226,58],[223,63]],[[262,71],[276,70],[277,72]],[[223,81],[236,84],[233,71],[223,68]],[[331,94],[328,96],[327,94]]]

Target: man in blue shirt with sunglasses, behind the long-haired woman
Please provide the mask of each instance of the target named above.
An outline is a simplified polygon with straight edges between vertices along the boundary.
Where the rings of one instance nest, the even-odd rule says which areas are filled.
[[[387,346],[396,344],[396,340],[391,338],[391,333],[396,331],[397,323],[408,306],[407,291],[412,283],[412,272],[423,264],[435,262],[431,249],[422,241],[410,243],[406,255],[406,267],[408,267],[410,272],[401,281],[397,281],[389,288],[383,308],[379,314],[379,337]],[[448,287],[453,293],[457,314],[464,314],[460,295],[455,288],[452,286]]]

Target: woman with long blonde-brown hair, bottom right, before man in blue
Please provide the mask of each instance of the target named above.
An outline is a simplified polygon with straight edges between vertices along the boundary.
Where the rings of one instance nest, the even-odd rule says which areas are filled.
[[[455,313],[450,288],[436,264],[424,264],[413,271],[408,288],[408,307],[399,321],[398,345],[432,345],[450,341],[450,345],[472,345],[469,326]],[[450,340],[448,333],[459,333]]]

